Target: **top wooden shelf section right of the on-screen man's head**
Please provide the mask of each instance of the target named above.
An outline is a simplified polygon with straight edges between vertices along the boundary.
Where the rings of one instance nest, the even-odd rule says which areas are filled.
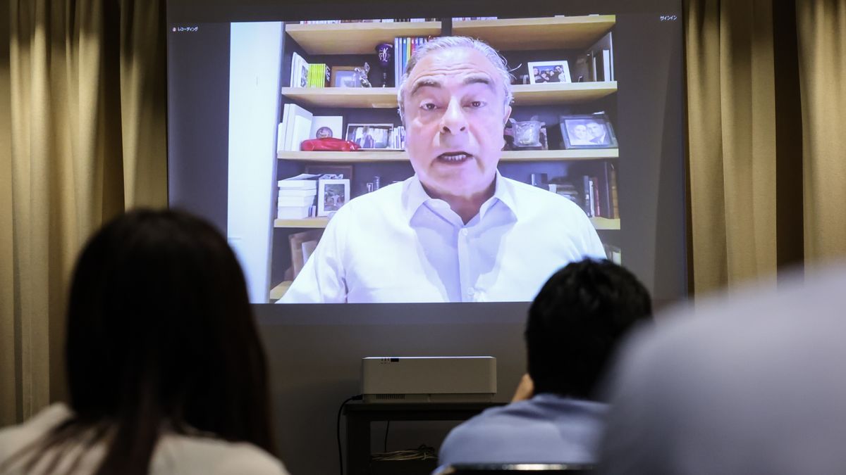
[[[453,22],[453,35],[472,36],[500,51],[587,48],[611,30],[614,15]]]

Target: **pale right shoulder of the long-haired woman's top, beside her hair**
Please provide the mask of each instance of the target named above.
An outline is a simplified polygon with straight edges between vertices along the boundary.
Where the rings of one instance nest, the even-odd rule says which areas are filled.
[[[255,445],[182,434],[162,436],[151,473],[288,475],[281,461]]]

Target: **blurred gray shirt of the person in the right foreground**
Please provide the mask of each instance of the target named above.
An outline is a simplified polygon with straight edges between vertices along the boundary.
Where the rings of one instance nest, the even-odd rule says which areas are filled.
[[[843,270],[806,276],[697,303],[636,337],[601,472],[846,473],[844,292]]]

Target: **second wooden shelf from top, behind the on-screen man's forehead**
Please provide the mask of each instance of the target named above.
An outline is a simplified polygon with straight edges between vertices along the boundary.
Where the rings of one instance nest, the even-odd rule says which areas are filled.
[[[514,106],[552,106],[596,101],[616,92],[617,81],[514,85]],[[283,87],[282,95],[306,107],[397,107],[395,87]]]

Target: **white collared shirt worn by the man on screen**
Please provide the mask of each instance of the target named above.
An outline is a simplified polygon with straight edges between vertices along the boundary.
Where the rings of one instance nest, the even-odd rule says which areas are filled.
[[[344,205],[281,303],[528,302],[574,260],[605,259],[569,199],[502,177],[466,225],[414,176]]]

